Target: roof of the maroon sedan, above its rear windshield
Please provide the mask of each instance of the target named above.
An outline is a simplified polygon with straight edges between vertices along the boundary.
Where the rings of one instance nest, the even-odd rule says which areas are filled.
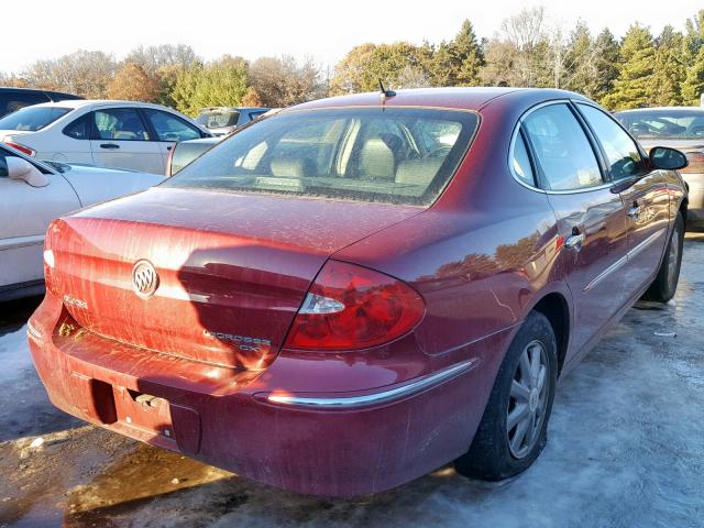
[[[447,109],[480,110],[494,99],[513,94],[514,98],[532,100],[537,96],[550,99],[583,99],[584,96],[572,91],[558,90],[551,88],[419,88],[396,90],[395,96],[387,97],[385,107],[432,107]],[[369,107],[381,106],[382,98],[380,91],[356,94],[350,96],[330,97],[317,101],[305,102],[286,110],[304,110],[314,108],[334,107]]]

